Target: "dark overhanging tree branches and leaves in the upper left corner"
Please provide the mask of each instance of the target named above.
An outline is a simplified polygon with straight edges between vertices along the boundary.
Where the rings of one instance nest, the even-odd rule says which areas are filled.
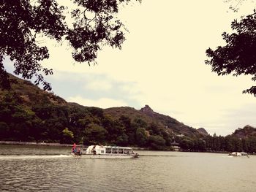
[[[116,13],[121,4],[130,0],[74,0],[69,11],[72,24],[67,24],[65,11],[58,0],[1,0],[0,1],[0,85],[10,88],[4,69],[4,58],[14,61],[14,73],[23,78],[35,77],[50,91],[50,83],[43,75],[53,74],[40,61],[49,58],[48,47],[41,46],[39,36],[67,40],[72,47],[72,57],[77,62],[95,64],[97,52],[104,45],[118,47],[124,42],[124,28]],[[136,0],[140,1],[140,0]]]

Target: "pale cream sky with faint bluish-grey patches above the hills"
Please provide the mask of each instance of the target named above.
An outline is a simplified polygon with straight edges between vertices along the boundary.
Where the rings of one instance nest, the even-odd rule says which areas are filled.
[[[71,1],[70,1],[71,2]],[[45,79],[69,102],[94,107],[148,104],[155,112],[209,134],[225,136],[236,128],[256,126],[256,98],[243,94],[255,83],[249,76],[217,76],[204,61],[206,49],[225,45],[221,34],[230,23],[252,13],[255,3],[230,0],[143,0],[118,13],[129,29],[122,49],[104,47],[97,65],[72,60],[65,43],[47,42],[44,65],[54,74]],[[5,62],[7,72],[12,64]]]

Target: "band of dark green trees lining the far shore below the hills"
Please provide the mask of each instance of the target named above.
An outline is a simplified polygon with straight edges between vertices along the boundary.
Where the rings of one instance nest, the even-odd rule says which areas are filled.
[[[43,99],[42,99],[43,100]],[[43,104],[42,104],[43,103]],[[208,135],[178,137],[157,123],[121,115],[116,119],[97,107],[78,104],[53,104],[49,99],[28,106],[15,92],[1,94],[0,139],[23,142],[60,142],[83,145],[122,145],[148,147],[153,150],[172,150],[178,142],[184,151],[244,151],[256,152],[256,137],[239,139]]]

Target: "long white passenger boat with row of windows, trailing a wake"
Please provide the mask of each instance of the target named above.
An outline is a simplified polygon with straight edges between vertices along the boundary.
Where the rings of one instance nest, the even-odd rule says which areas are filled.
[[[131,147],[90,145],[81,153],[83,158],[138,158]]]

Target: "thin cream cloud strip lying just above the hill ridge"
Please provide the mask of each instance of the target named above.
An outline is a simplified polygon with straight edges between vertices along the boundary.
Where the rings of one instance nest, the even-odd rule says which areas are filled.
[[[86,99],[82,96],[71,96],[67,99],[69,102],[76,102],[78,104],[81,104],[83,106],[88,107],[100,107],[103,109],[109,108],[109,107],[125,107],[128,106],[128,104],[125,101],[121,100],[114,100],[110,98],[101,98],[101,99]]]

